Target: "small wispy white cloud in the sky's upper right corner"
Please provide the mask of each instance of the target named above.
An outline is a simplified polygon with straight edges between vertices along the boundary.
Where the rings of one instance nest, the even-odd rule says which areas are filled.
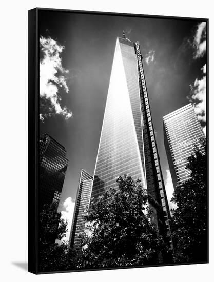
[[[203,57],[206,53],[206,22],[198,24],[193,39],[194,58]]]

